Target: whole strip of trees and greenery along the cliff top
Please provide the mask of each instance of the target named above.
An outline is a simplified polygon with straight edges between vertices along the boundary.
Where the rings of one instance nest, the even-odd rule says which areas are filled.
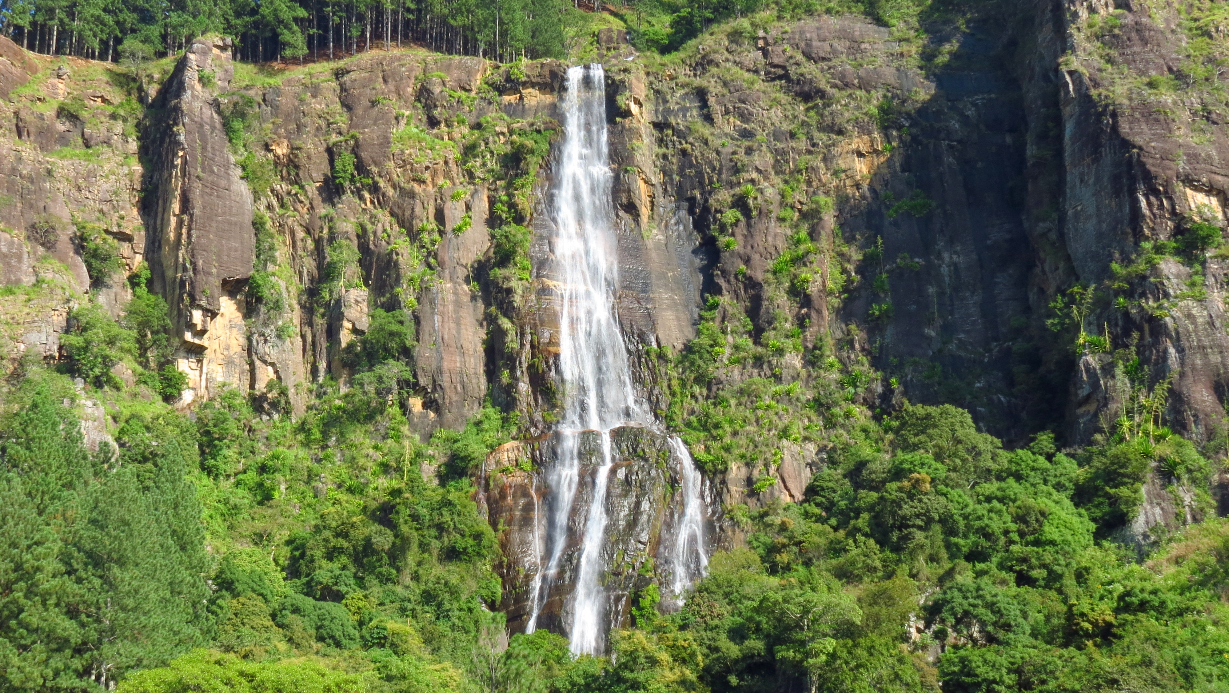
[[[633,43],[671,52],[714,22],[762,11],[782,17],[860,12],[882,23],[933,0],[5,0],[0,32],[27,50],[144,60],[193,38],[234,37],[248,61],[336,59],[410,43],[500,61],[564,58],[587,37],[586,14],[623,17]]]

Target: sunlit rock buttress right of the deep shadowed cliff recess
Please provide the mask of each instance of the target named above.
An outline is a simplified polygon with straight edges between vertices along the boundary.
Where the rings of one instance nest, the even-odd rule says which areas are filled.
[[[1134,275],[1112,263],[1138,262],[1144,243],[1182,242],[1192,222],[1224,226],[1225,101],[1197,79],[1192,54],[1201,41],[1223,41],[1224,29],[1184,26],[1190,20],[1174,10],[1153,17],[1095,2],[1069,7],[1063,21],[1075,60],[1053,88],[1066,124],[1059,214],[1072,269],[1078,281],[1112,285],[1115,305],[1097,305],[1090,319],[1113,349],[1133,348],[1150,369],[1148,386],[1171,383],[1171,425],[1208,440],[1225,426],[1224,258],[1149,260]],[[1170,80],[1182,84],[1170,88]],[[1110,353],[1080,359],[1069,402],[1079,439],[1132,398],[1138,383],[1121,366]]]

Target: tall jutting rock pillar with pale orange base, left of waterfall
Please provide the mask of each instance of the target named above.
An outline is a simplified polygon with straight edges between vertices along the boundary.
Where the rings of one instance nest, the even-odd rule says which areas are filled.
[[[150,289],[167,299],[173,333],[182,335],[176,355],[188,375],[186,402],[224,383],[263,385],[243,324],[256,246],[252,193],[229,151],[213,91],[230,86],[229,49],[229,41],[188,48],[150,103],[157,116],[143,138]]]

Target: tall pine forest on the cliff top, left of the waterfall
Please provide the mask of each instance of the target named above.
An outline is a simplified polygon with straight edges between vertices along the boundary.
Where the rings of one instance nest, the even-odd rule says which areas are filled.
[[[519,0],[510,6],[465,9],[406,0],[374,5],[351,0],[326,5],[275,0],[258,5],[231,0],[159,5],[149,0],[74,0],[6,6],[0,25],[6,36],[43,54],[143,64],[183,50],[192,39],[224,33],[237,41],[243,60],[267,61],[358,54],[425,42],[439,50],[468,54],[562,58],[564,41],[580,12],[559,0]],[[316,28],[318,27],[318,29]],[[447,31],[441,31],[444,28]],[[361,43],[360,43],[361,42]],[[203,71],[202,86],[216,75]],[[71,108],[69,109],[71,113]]]

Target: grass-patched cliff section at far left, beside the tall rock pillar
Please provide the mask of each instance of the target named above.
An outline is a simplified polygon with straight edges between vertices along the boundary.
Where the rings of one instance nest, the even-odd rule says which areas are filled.
[[[118,316],[140,264],[140,106],[98,64],[36,57],[0,39],[0,348],[54,361],[86,295]],[[87,268],[84,251],[107,262]],[[132,372],[119,369],[120,377]]]

